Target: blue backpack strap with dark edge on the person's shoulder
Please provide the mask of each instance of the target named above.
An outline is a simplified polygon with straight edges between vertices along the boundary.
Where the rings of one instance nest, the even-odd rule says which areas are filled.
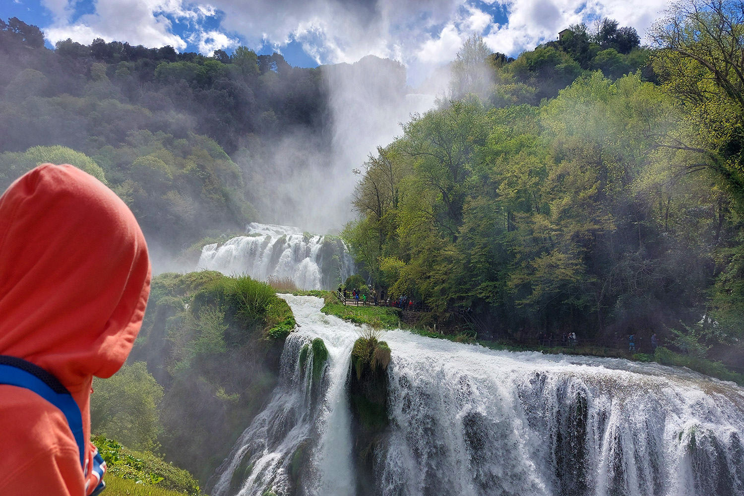
[[[25,387],[62,410],[80,451],[80,467],[85,470],[86,445],[83,438],[83,417],[72,395],[51,373],[30,361],[0,355],[0,384]]]

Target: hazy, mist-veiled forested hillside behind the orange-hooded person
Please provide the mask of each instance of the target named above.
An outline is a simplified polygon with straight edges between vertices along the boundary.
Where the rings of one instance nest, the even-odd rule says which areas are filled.
[[[101,39],[48,50],[16,18],[0,36],[0,188],[40,161],[80,165],[174,254],[260,219],[253,204],[269,194],[251,186],[265,171],[230,155],[260,161],[296,129],[321,147],[327,139],[320,71],[279,54],[203,57]]]

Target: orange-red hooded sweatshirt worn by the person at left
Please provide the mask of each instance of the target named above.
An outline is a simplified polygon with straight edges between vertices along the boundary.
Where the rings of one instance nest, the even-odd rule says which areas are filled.
[[[149,294],[142,231],[92,175],[43,164],[0,197],[0,355],[54,374],[80,407],[85,439],[93,376],[124,364]],[[90,472],[90,443],[85,460]],[[62,412],[0,385],[0,495],[84,496],[91,486]]]

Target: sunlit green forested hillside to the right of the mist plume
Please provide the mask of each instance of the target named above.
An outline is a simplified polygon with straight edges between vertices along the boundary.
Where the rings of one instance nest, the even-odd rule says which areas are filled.
[[[607,20],[516,60],[469,39],[460,98],[359,171],[344,238],[373,284],[481,338],[658,332],[739,361],[744,79],[727,15],[679,7],[653,49]]]

